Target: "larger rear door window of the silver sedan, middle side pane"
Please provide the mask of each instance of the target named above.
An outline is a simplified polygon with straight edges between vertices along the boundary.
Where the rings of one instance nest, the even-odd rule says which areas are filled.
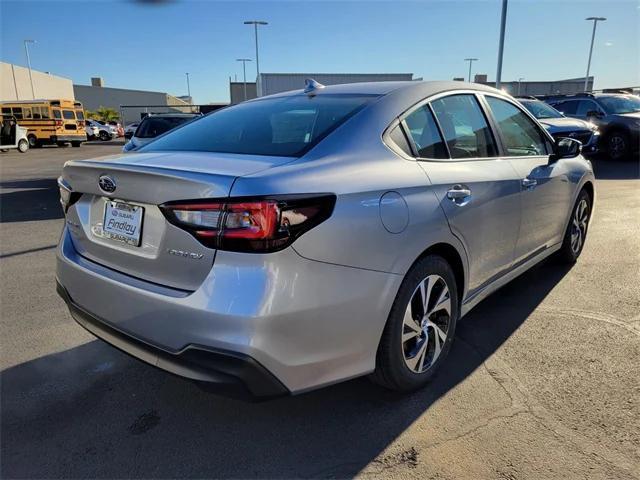
[[[495,140],[473,95],[452,95],[431,102],[451,158],[498,155]]]

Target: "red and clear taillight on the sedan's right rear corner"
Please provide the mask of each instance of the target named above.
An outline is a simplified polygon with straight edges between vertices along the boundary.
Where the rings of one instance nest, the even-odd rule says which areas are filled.
[[[170,202],[160,209],[209,248],[266,253],[286,248],[329,218],[335,201],[331,194],[282,195]]]

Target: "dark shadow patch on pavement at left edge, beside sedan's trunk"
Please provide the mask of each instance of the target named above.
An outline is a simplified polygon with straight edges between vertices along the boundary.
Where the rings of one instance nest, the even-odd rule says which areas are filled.
[[[0,223],[64,217],[55,178],[5,181],[0,189]]]

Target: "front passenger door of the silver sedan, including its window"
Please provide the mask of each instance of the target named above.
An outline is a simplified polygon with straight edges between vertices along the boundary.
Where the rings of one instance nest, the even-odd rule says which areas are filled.
[[[567,162],[549,164],[552,144],[532,117],[505,98],[485,95],[505,158],[520,179],[522,209],[515,262],[562,241],[572,187]]]

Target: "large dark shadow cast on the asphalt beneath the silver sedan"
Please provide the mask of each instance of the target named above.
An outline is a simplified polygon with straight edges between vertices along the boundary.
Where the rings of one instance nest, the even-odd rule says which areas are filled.
[[[0,475],[352,477],[384,463],[383,450],[481,367],[568,271],[544,262],[481,303],[460,322],[440,374],[410,395],[361,378],[247,403],[100,341],[13,366],[2,372]]]

